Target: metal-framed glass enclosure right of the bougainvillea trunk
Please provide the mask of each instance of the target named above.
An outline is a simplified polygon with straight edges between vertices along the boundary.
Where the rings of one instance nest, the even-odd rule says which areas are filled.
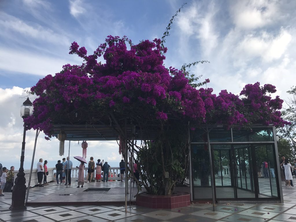
[[[192,138],[193,198],[212,199],[207,133],[196,129]],[[280,200],[272,126],[250,130],[214,127],[209,139],[215,200]]]

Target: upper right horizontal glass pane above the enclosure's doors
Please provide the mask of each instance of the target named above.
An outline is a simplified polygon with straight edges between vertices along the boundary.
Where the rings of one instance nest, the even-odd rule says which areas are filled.
[[[234,142],[274,141],[271,127],[254,127],[240,130],[233,128],[232,135]]]

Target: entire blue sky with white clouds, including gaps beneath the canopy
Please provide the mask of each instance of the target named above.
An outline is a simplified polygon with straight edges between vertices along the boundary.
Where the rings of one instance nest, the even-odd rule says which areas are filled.
[[[161,38],[183,2],[0,0],[0,163],[16,168],[20,164],[25,91],[62,65],[81,63],[68,54],[71,42],[92,52],[108,35],[126,35],[133,43]],[[179,68],[208,60],[191,72],[210,78],[207,87],[215,93],[227,89],[238,94],[245,84],[259,81],[275,85],[276,95],[287,99],[286,91],[295,85],[295,10],[294,0],[187,1],[167,38],[165,65]],[[34,138],[35,132],[28,131],[25,168],[30,166]],[[70,156],[81,152],[81,142],[72,142]],[[111,166],[121,160],[112,141],[89,142],[90,156]],[[40,133],[35,159],[41,157],[54,166],[61,159],[59,141],[45,141]]]

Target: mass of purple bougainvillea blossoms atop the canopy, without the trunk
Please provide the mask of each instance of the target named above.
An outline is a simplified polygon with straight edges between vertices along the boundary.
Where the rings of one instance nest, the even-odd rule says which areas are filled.
[[[268,95],[276,91],[274,86],[248,84],[241,92],[242,99],[226,90],[216,96],[211,88],[193,88],[182,70],[165,68],[166,51],[160,39],[133,45],[126,36],[108,36],[87,55],[85,47],[73,42],[69,53],[83,57],[84,62],[64,65],[60,73],[47,75],[31,88],[38,98],[33,103],[33,116],[25,123],[49,137],[53,124],[81,124],[98,116],[108,117],[110,112],[119,119],[137,118],[145,123],[179,119],[227,126],[287,124],[279,111],[283,101]],[[97,62],[101,56],[105,63]]]

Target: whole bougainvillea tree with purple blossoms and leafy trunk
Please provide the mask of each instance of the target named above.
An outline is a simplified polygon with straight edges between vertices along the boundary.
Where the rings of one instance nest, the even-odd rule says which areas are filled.
[[[110,116],[122,128],[127,120],[142,132],[154,131],[155,138],[134,144],[134,158],[141,165],[139,184],[159,195],[172,193],[188,170],[188,122],[226,127],[285,124],[279,112],[283,101],[268,95],[275,92],[274,86],[246,85],[241,98],[226,90],[215,95],[211,88],[194,88],[185,69],[165,67],[166,52],[160,39],[134,45],[126,36],[108,36],[91,54],[73,42],[70,54],[84,62],[64,65],[61,72],[47,75],[31,88],[38,98],[25,124],[44,131],[46,139],[53,136],[53,125],[110,125]],[[98,62],[99,57],[104,62]],[[133,140],[128,139],[131,146]]]

